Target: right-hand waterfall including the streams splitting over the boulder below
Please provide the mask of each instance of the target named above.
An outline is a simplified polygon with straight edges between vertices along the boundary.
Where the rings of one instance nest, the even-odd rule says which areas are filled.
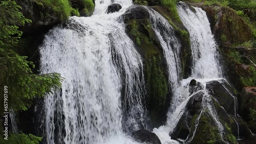
[[[193,98],[197,92],[203,93],[202,111],[200,115],[207,109],[207,113],[211,116],[215,122],[219,134],[223,140],[224,127],[219,121],[218,114],[215,110],[213,102],[205,89],[206,83],[212,80],[219,81],[222,78],[221,66],[219,64],[219,55],[217,51],[217,44],[214,40],[214,36],[211,34],[210,23],[207,19],[206,13],[201,8],[195,8],[196,12],[193,12],[185,3],[180,2],[177,6],[179,16],[189,32],[191,52],[193,58],[192,74],[188,79],[182,80],[180,87],[174,90],[172,98],[172,106],[168,112],[167,122],[165,126],[161,126],[158,129],[154,129],[162,143],[179,143],[170,139],[168,133],[172,132],[179,122],[180,117],[185,111],[187,102]],[[203,89],[194,91],[193,94],[189,93],[189,82],[195,79],[200,82]],[[236,103],[236,98],[234,97]],[[236,105],[234,107],[236,111]],[[236,112],[235,112],[236,113]],[[199,122],[200,115],[196,123]],[[196,128],[197,129],[197,124]],[[196,130],[194,131],[195,134]],[[190,139],[184,140],[189,142],[193,139],[194,135]]]

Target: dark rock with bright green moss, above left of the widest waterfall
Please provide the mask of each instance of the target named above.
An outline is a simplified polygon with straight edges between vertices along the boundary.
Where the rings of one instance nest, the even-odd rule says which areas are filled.
[[[72,10],[68,0],[17,0],[16,3],[22,7],[23,15],[32,20],[32,23],[21,28],[25,34],[47,32],[67,20]]]

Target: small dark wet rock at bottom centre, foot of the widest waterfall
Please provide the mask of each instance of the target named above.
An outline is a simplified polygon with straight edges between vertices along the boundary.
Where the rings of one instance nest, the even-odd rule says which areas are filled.
[[[161,144],[160,139],[155,133],[147,130],[138,130],[132,133],[134,140],[146,144]]]

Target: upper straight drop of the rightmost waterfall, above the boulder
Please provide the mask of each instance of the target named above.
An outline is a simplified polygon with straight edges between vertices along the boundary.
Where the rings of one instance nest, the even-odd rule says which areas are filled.
[[[187,5],[179,3],[179,16],[189,32],[193,58],[191,77],[206,79],[220,78],[221,66],[214,35],[211,34],[210,23],[206,12],[195,7],[196,13]]]

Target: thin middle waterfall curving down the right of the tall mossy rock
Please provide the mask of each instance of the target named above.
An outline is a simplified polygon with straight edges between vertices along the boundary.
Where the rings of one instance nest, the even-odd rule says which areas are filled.
[[[145,7],[150,13],[153,29],[160,40],[164,51],[164,58],[167,63],[169,73],[169,84],[172,89],[179,85],[181,73],[180,64],[180,40],[175,36],[175,30],[170,23],[152,8]]]

